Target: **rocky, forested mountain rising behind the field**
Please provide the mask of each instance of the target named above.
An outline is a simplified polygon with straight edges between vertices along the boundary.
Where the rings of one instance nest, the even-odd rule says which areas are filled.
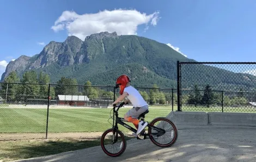
[[[11,71],[16,71],[21,78],[25,71],[34,70],[50,74],[51,83],[57,83],[61,77],[68,77],[76,78],[78,84],[90,80],[93,85],[114,85],[115,79],[125,73],[131,77],[134,86],[151,87],[157,84],[162,88],[176,88],[177,60],[195,61],[155,40],[136,35],[117,35],[116,32],[101,32],[87,36],[84,41],[76,36],[68,36],[64,42],[51,41],[33,57],[22,55],[8,64],[1,81]],[[200,75],[208,78],[212,84],[251,86],[246,84],[246,74],[236,74],[206,65],[199,65],[197,68],[190,66],[187,71],[182,72],[182,88],[193,87]],[[212,68],[220,74],[217,82],[216,76],[211,74]],[[224,78],[233,75],[241,79],[230,82]],[[251,79],[256,78],[252,77],[254,76],[249,75]]]

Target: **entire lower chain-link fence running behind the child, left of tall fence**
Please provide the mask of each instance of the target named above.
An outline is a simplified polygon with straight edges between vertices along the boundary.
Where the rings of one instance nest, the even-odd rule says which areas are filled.
[[[177,109],[176,90],[137,88],[148,102],[145,120]],[[113,86],[0,83],[0,140],[99,139],[113,124]],[[132,108],[119,109],[119,117]],[[128,123],[134,127],[132,123]],[[125,135],[129,129],[120,126]]]

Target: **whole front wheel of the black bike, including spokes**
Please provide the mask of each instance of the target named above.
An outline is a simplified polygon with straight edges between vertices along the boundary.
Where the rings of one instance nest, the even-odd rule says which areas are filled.
[[[124,134],[118,129],[114,130],[114,128],[107,129],[102,134],[100,144],[103,152],[110,157],[118,157],[123,154],[126,149]]]

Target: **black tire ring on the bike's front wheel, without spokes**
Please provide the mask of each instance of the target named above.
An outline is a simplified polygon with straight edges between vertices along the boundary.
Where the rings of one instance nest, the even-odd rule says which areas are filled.
[[[118,157],[118,156],[120,156],[121,154],[123,154],[124,151],[125,151],[125,149],[126,149],[126,140],[125,140],[125,136],[124,136],[124,134],[123,134],[120,130],[118,130],[118,129],[115,130],[115,134],[118,134],[118,138],[121,137],[120,139],[121,139],[121,142],[123,142],[123,146],[121,147],[121,150],[120,150],[119,152],[117,152],[117,153],[111,153],[111,152],[107,151],[107,149],[106,149],[106,146],[107,146],[107,145],[106,145],[105,142],[104,142],[104,139],[105,139],[106,135],[107,135],[108,133],[111,133],[111,132],[112,132],[112,134],[113,134],[114,128],[107,129],[105,132],[103,132],[103,134],[102,134],[102,136],[101,136],[101,140],[100,140],[100,145],[101,145],[101,148],[102,148],[102,150],[103,150],[104,153],[106,153],[106,154],[109,155],[110,157]],[[110,145],[111,145],[111,144],[110,144]]]

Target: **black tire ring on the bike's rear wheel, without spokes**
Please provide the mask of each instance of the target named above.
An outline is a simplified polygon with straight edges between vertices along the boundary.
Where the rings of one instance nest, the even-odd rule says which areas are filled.
[[[158,121],[165,121],[165,122],[168,122],[172,127],[173,127],[173,130],[174,130],[174,138],[168,142],[167,144],[160,144],[159,142],[157,142],[153,135],[152,135],[152,128],[148,128],[148,133],[149,133],[149,139],[151,140],[151,142],[153,142],[153,144],[155,144],[156,146],[159,146],[159,147],[170,147],[172,146],[176,140],[178,139],[178,128],[176,127],[176,124],[172,121],[172,120],[169,120],[167,117],[157,117],[156,119],[154,119],[153,121],[150,122],[150,125],[151,126],[154,126],[154,124]],[[155,126],[157,127],[157,126]]]

